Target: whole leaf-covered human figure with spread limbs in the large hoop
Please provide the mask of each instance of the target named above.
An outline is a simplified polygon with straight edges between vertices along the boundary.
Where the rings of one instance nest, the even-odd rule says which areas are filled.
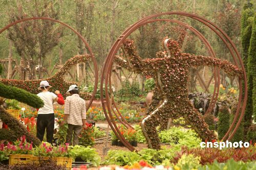
[[[217,66],[231,76],[242,76],[242,70],[228,61],[217,58],[197,56],[181,53],[177,41],[165,39],[164,46],[167,52],[158,52],[161,58],[141,59],[136,52],[133,40],[125,40],[124,48],[129,54],[127,61],[116,56],[115,62],[123,67],[131,67],[133,71],[151,76],[159,92],[157,95],[162,102],[147,115],[141,122],[141,127],[149,148],[160,149],[160,140],[156,127],[169,118],[183,116],[187,123],[195,129],[199,136],[205,140],[215,139],[213,131],[208,129],[201,114],[188,100],[188,68],[192,66]]]

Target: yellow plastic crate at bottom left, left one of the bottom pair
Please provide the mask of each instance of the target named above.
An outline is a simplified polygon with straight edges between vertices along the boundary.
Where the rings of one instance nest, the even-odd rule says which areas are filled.
[[[9,164],[26,164],[33,161],[33,155],[19,155],[19,154],[10,154],[9,155]]]

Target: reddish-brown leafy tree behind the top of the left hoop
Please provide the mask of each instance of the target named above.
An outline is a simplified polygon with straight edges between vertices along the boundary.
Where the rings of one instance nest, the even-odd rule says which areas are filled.
[[[34,1],[25,6],[17,2],[17,8],[9,12],[9,22],[26,17],[50,17],[58,19],[58,9],[54,1]],[[19,23],[8,29],[8,38],[13,41],[20,59],[20,72],[29,70],[30,79],[36,78],[35,66],[38,63],[38,78],[41,78],[41,67],[46,55],[58,44],[62,36],[62,26],[56,27],[50,20],[32,20]],[[27,62],[27,69],[26,64]],[[23,76],[22,76],[23,77]]]

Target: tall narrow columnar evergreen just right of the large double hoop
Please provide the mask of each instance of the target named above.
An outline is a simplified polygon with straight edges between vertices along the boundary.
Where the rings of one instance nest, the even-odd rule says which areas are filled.
[[[252,35],[252,23],[251,18],[254,15],[253,5],[248,2],[245,3],[242,11],[242,20],[241,20],[241,37],[242,37],[242,47],[243,47],[243,62],[245,66],[245,70],[247,72],[247,84],[248,84],[248,97],[247,97],[247,103],[246,103],[246,110],[244,115],[244,135],[246,136],[248,128],[250,127],[252,123],[252,113],[253,113],[253,100],[252,100],[252,91],[253,91],[253,77],[252,73],[255,70],[249,70],[248,65],[253,64],[252,60],[253,56],[255,58],[255,52],[251,52],[250,60],[252,63],[248,63],[248,53],[249,53],[249,47],[250,47],[250,39]],[[253,41],[253,40],[252,40]],[[255,46],[255,43],[252,44],[251,48]],[[255,64],[255,63],[254,63]],[[250,67],[250,69],[255,68],[255,66]],[[252,74],[251,74],[252,73]],[[244,86],[243,86],[244,87]],[[244,89],[244,88],[243,88]]]

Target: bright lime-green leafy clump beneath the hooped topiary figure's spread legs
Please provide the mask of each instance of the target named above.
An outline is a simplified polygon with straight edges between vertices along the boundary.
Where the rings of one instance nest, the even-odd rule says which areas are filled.
[[[183,145],[188,148],[198,147],[201,139],[197,133],[191,129],[185,129],[183,127],[171,127],[168,130],[161,131],[159,133],[160,141],[163,143],[170,143],[177,150]]]

